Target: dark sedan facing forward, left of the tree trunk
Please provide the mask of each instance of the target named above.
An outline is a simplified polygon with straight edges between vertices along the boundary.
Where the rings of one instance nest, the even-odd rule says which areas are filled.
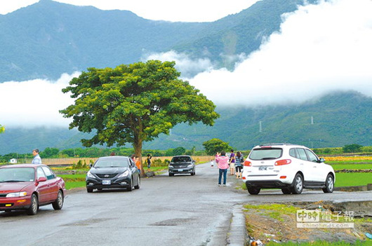
[[[86,191],[93,189],[140,189],[140,173],[127,156],[100,157],[86,174]]]

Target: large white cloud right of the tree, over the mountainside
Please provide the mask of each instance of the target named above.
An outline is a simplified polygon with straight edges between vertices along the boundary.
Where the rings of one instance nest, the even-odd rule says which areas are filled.
[[[234,71],[204,71],[190,83],[216,104],[296,103],[333,90],[372,96],[371,13],[370,0],[301,6]]]

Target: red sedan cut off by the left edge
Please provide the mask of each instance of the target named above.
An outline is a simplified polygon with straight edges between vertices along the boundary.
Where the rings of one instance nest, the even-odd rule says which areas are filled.
[[[65,181],[47,165],[19,164],[0,167],[0,211],[26,210],[34,215],[39,206],[60,210]]]

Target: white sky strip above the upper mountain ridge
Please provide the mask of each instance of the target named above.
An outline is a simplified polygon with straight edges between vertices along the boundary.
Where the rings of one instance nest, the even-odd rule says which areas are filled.
[[[102,10],[128,10],[142,18],[150,20],[168,20],[182,22],[211,22],[226,15],[239,13],[258,0],[56,0],[76,6],[95,6]],[[6,14],[22,6],[34,4],[38,0],[1,0],[0,13]]]

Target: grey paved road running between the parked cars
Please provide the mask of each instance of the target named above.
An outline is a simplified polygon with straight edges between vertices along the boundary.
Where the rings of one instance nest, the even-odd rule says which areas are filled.
[[[36,216],[0,212],[1,245],[227,245],[230,224],[245,203],[372,198],[371,192],[322,191],[249,196],[235,189],[234,177],[228,177],[227,187],[218,187],[217,178],[217,168],[205,163],[196,176],[166,173],[142,179],[140,189],[131,192],[72,191],[60,211],[48,205]]]

